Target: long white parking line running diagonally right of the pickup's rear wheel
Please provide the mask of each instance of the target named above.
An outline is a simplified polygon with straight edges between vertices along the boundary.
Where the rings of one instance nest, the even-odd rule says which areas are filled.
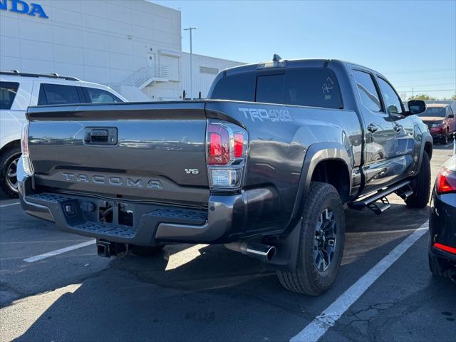
[[[386,257],[378,261],[366,274],[364,274],[355,284],[350,286],[336,301],[328,306],[323,312],[311,321],[304,330],[291,338],[290,342],[316,342],[336,321],[341,318],[343,313],[354,304],[361,295],[392,265],[397,261],[415,242],[423,237],[427,232],[429,221],[425,222],[415,232],[398,244]]]

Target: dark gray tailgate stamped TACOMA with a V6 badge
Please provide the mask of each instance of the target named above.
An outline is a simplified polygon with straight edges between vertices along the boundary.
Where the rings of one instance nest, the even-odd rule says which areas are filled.
[[[202,205],[209,197],[204,102],[28,109],[38,186]]]

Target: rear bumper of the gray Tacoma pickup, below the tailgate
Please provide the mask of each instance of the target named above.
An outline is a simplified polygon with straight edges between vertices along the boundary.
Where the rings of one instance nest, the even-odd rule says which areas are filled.
[[[19,181],[24,211],[55,222],[63,231],[87,237],[141,246],[166,242],[214,244],[235,241],[244,227],[242,194],[211,195],[207,209],[187,209],[122,199],[34,193],[32,182],[32,177]],[[113,218],[108,223],[100,221],[99,208],[106,202],[113,206]],[[128,224],[121,222],[120,205],[133,212]],[[122,210],[125,213],[125,207]]]

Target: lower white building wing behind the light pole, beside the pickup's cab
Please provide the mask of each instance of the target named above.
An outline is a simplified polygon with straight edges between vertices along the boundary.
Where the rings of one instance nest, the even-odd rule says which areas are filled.
[[[193,53],[193,97],[197,98],[201,92],[202,98],[207,97],[207,92],[214,81],[215,76],[220,71],[233,66],[240,66],[245,63],[228,61],[226,59],[202,56]],[[182,89],[190,98],[190,53],[182,53]],[[209,69],[208,69],[209,68]],[[216,73],[208,73],[208,71],[217,71]]]

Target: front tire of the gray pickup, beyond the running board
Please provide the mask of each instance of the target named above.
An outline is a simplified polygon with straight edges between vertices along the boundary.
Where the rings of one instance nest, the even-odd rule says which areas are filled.
[[[405,204],[410,208],[424,208],[430,195],[430,161],[426,152],[423,152],[420,172],[413,178],[410,187],[413,195],[405,199]]]

